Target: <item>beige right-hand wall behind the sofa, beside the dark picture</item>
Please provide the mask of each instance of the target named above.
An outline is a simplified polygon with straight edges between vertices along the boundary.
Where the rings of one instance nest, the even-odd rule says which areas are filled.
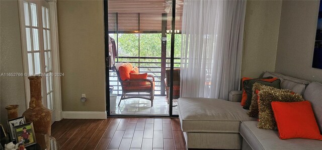
[[[276,72],[322,82],[322,69],[312,68],[319,1],[283,1]]]

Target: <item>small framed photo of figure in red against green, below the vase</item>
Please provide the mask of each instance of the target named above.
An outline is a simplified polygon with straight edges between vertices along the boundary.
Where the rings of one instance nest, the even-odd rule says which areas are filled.
[[[32,122],[18,125],[14,128],[17,142],[24,140],[25,146],[36,143],[34,125],[32,124]]]

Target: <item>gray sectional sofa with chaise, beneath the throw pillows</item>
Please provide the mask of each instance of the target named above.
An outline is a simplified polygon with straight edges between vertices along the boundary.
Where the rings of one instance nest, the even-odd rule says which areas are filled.
[[[265,72],[277,77],[282,89],[303,95],[312,104],[322,131],[322,84]],[[179,118],[188,148],[213,149],[322,149],[322,141],[312,139],[281,140],[278,132],[257,128],[257,118],[249,117],[240,105],[241,91],[231,91],[227,100],[180,98]]]

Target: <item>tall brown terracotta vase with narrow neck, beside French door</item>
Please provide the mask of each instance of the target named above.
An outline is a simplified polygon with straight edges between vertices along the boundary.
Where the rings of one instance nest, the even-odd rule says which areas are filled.
[[[51,111],[42,105],[41,77],[28,77],[30,83],[29,108],[23,113],[27,122],[33,122],[35,133],[50,135]]]

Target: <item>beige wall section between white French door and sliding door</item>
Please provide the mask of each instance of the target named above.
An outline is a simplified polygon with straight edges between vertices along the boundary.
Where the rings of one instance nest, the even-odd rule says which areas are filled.
[[[103,1],[58,1],[57,13],[62,110],[105,111]]]

